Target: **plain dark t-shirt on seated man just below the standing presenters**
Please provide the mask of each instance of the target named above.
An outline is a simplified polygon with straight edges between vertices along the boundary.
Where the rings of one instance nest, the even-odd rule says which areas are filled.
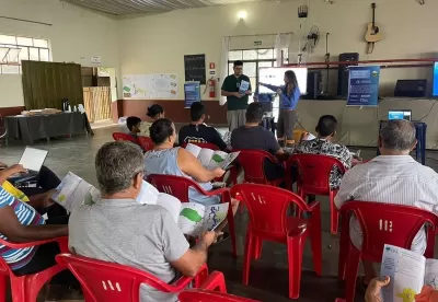
[[[233,149],[264,150],[270,154],[275,154],[280,150],[280,146],[274,133],[262,126],[241,126],[234,129],[231,132],[231,147]]]

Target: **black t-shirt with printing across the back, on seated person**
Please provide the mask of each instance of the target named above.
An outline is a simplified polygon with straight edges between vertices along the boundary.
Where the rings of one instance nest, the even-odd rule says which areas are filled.
[[[207,125],[187,125],[181,128],[178,132],[180,146],[184,143],[214,143],[219,147],[220,150],[227,149],[227,143],[223,142],[219,132]]]

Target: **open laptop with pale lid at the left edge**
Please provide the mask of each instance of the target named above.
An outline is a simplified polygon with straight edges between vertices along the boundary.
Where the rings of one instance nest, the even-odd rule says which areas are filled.
[[[21,164],[25,170],[24,174],[12,175],[9,179],[12,181],[25,181],[31,179],[38,175],[44,162],[46,161],[48,151],[26,147],[23,154],[21,155],[19,164]]]

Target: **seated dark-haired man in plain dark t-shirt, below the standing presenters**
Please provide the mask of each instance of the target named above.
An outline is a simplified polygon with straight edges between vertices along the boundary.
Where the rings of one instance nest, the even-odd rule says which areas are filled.
[[[263,119],[263,107],[261,103],[252,103],[246,109],[245,125],[231,132],[232,149],[253,149],[267,151],[284,161],[289,158],[278,144],[275,135],[260,126]],[[268,181],[275,181],[285,176],[283,164],[274,164],[268,159],[264,162],[265,176]]]

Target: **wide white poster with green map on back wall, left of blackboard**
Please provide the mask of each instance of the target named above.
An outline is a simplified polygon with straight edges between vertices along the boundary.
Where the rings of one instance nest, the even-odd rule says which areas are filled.
[[[174,73],[123,76],[124,98],[176,98],[177,77]]]

